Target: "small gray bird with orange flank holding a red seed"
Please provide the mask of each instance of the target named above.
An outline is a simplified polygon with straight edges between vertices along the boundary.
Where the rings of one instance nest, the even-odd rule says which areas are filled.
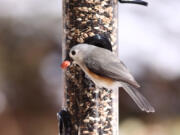
[[[111,51],[94,45],[78,44],[71,48],[69,56],[97,87],[113,90],[123,87],[142,111],[155,111],[145,97],[136,90],[140,85]]]

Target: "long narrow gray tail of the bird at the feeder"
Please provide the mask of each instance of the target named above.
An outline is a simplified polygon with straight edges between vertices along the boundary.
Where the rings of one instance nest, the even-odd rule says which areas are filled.
[[[143,95],[141,95],[138,90],[126,83],[123,83],[123,88],[142,111],[146,111],[148,113],[155,112],[154,107],[151,106],[147,99]]]

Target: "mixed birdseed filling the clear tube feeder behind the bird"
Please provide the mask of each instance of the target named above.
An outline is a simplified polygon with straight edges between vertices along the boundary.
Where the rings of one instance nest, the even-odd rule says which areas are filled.
[[[105,35],[116,52],[117,0],[64,0],[63,15],[63,46],[67,54],[72,46],[97,34]],[[65,107],[72,123],[70,134],[117,135],[118,101],[114,92],[96,88],[77,65],[67,69],[65,78]]]

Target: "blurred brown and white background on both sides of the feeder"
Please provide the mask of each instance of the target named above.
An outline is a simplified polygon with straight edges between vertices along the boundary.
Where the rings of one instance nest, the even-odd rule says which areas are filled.
[[[180,135],[180,1],[119,4],[119,57],[156,113],[120,92],[121,135]],[[61,0],[0,1],[0,135],[57,135]]]

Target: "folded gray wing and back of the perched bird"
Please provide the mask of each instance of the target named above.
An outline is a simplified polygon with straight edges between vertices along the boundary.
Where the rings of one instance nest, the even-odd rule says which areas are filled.
[[[84,58],[84,63],[90,71],[100,76],[140,87],[118,57],[106,49],[94,49]]]

